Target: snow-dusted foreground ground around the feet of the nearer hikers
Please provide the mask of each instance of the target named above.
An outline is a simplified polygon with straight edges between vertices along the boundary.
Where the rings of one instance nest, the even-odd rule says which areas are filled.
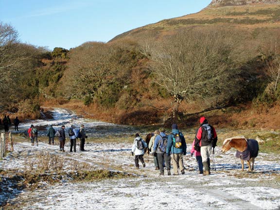
[[[68,144],[67,144],[68,146]],[[188,146],[188,151],[191,145]],[[0,202],[8,202],[20,209],[279,209],[280,157],[260,153],[255,172],[241,172],[240,160],[234,150],[221,154],[215,148],[215,167],[210,176],[197,174],[196,161],[190,153],[184,156],[186,174],[159,176],[153,157],[144,156],[146,167],[135,169],[131,145],[127,143],[88,143],[89,151],[59,152],[58,145],[40,142],[15,144],[15,151],[2,161],[2,170],[23,171],[26,158],[48,151],[67,159],[84,162],[96,169],[135,173],[139,176],[104,179],[93,182],[62,180],[42,185],[36,190],[16,190],[11,184],[0,192]],[[21,154],[28,154],[22,158]],[[211,162],[212,161],[211,157]],[[211,163],[212,164],[212,163]],[[68,169],[74,166],[68,165]],[[245,168],[247,169],[247,168]],[[3,189],[3,188],[2,188]],[[7,208],[6,206],[5,208]]]

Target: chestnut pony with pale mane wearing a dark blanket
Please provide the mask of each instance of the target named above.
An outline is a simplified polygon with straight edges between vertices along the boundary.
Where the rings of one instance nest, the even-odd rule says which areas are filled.
[[[255,157],[258,156],[259,143],[257,140],[246,139],[245,137],[232,137],[224,140],[222,153],[227,152],[230,148],[235,148],[236,155],[241,159],[242,171],[244,171],[244,160],[247,160],[248,171],[254,171]],[[252,167],[251,167],[252,163]]]

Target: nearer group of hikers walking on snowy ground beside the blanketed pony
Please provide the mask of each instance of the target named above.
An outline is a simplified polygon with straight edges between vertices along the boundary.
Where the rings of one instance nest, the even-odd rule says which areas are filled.
[[[196,157],[199,174],[210,175],[210,153],[217,144],[217,133],[205,117],[200,118],[200,127],[192,142],[191,156]],[[164,128],[159,128],[153,133],[149,144],[145,142],[137,133],[131,148],[132,156],[135,155],[135,167],[139,169],[139,160],[145,167],[145,148],[149,149],[154,157],[155,169],[159,170],[159,175],[164,175],[164,168],[167,175],[171,175],[171,159],[173,162],[173,175],[185,174],[183,156],[187,154],[187,145],[184,135],[178,130],[177,124],[172,124],[172,132],[165,133]],[[203,170],[204,168],[204,170]]]

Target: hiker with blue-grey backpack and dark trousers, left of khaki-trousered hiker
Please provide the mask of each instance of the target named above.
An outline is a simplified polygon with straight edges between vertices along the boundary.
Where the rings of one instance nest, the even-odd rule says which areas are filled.
[[[157,156],[159,175],[164,175],[164,164],[167,169],[167,175],[171,175],[170,172],[170,159],[171,157],[166,154],[167,135],[164,128],[159,128],[159,135],[156,136],[154,142],[154,156]]]

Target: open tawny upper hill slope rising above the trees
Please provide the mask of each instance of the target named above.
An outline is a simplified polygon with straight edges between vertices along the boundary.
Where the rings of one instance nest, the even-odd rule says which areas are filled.
[[[139,39],[146,33],[162,38],[184,28],[215,25],[248,29],[279,28],[280,0],[212,0],[209,6],[198,13],[145,25],[117,35],[111,41]]]

